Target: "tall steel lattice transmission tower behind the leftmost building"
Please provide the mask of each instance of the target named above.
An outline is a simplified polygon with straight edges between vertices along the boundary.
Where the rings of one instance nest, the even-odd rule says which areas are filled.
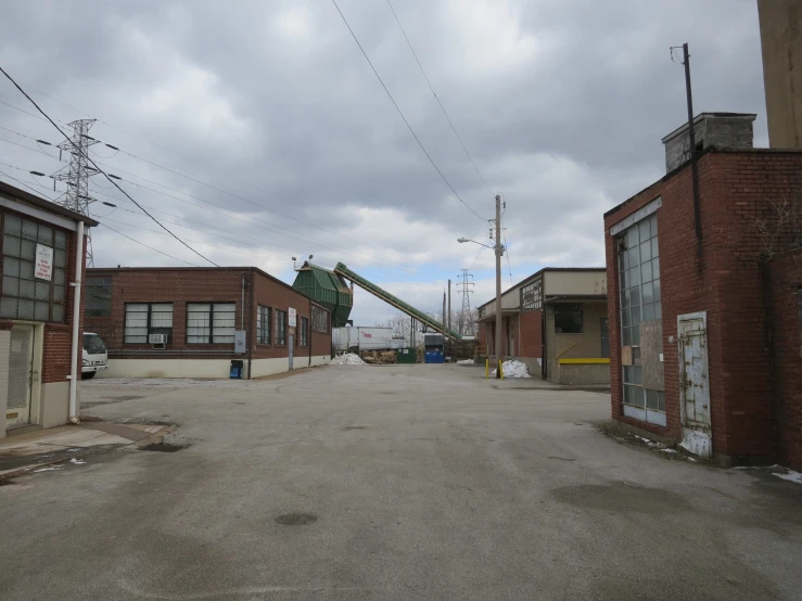
[[[65,181],[67,190],[56,201],[60,205],[89,216],[89,204],[94,200],[89,196],[89,178],[98,169],[89,165],[89,146],[98,140],[89,136],[89,130],[97,119],[78,119],[68,124],[73,128],[72,141],[59,144],[59,149],[69,153],[69,165],[53,174],[53,179]],[[80,152],[76,150],[80,149]],[[93,267],[92,239],[87,233],[87,267]]]

